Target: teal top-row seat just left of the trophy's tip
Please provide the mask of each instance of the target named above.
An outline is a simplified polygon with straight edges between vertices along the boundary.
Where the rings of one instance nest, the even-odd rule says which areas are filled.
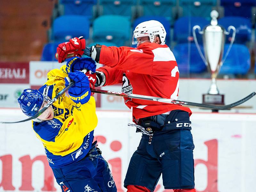
[[[180,0],[179,6],[182,8],[180,16],[198,16],[210,20],[212,7],[216,6],[217,0]]]

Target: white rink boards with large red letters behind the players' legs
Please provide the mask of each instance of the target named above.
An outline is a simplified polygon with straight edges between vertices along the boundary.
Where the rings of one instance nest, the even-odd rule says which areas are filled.
[[[118,192],[124,192],[126,170],[141,135],[127,126],[131,123],[129,111],[97,111],[97,115],[94,136]],[[0,109],[1,121],[23,118],[18,109]],[[245,192],[254,188],[256,114],[194,113],[191,121],[197,191]],[[0,191],[60,191],[31,122],[1,124],[0,142]],[[164,190],[160,179],[155,191],[172,190]]]

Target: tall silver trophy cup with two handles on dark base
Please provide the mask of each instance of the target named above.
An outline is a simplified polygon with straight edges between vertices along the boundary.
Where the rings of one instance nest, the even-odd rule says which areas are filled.
[[[228,53],[231,49],[232,44],[235,40],[236,28],[234,26],[228,27],[228,32],[224,27],[218,25],[217,18],[219,13],[215,10],[211,12],[211,25],[207,25],[201,31],[200,26],[196,25],[193,27],[193,36],[196,43],[196,47],[200,56],[202,57],[205,65],[208,67],[208,70],[211,73],[212,83],[208,94],[203,95],[203,103],[210,104],[223,104],[224,105],[224,95],[221,95],[216,84],[216,77],[220,71],[222,63],[226,60]],[[198,29],[199,34],[203,35],[203,45],[204,45],[204,55],[199,47],[197,38],[196,38],[196,29]],[[232,39],[230,41],[228,51],[223,58],[224,44],[226,35],[230,34],[230,30],[233,30]]]

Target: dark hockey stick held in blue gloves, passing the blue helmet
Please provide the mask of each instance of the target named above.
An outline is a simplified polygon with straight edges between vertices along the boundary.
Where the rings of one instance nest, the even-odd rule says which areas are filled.
[[[47,108],[49,108],[57,99],[59,99],[61,97],[61,95],[63,95],[66,91],[68,91],[68,89],[70,87],[72,87],[74,85],[74,81],[71,81],[67,87],[65,87],[64,89],[62,89],[57,95],[56,97],[54,97],[49,103],[47,103],[47,105],[42,108],[40,111],[38,111],[38,113],[36,113],[36,115],[29,117],[28,119],[24,119],[21,121],[15,121],[15,122],[0,122],[0,123],[21,123],[21,122],[25,122],[25,121],[29,121],[32,119],[35,119],[36,117],[40,116]]]

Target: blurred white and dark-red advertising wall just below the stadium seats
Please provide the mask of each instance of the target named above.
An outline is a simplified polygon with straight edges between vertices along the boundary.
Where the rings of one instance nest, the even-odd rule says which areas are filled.
[[[17,108],[17,98],[24,89],[40,88],[47,79],[47,73],[53,68],[60,68],[62,64],[52,61],[30,61],[27,63],[3,63],[0,66],[0,107]],[[97,68],[101,67],[97,64]],[[183,74],[184,75],[184,74]],[[202,102],[202,95],[207,93],[211,84],[210,79],[180,78],[178,100]],[[240,100],[255,92],[255,79],[219,79],[217,85],[221,94],[225,95],[225,104]],[[121,85],[102,87],[109,91],[122,91]],[[143,94],[143,93],[140,93]],[[107,110],[127,110],[121,97],[95,94],[96,106]],[[245,110],[256,110],[256,97],[243,103],[239,107]],[[239,112],[244,109],[237,109]]]

